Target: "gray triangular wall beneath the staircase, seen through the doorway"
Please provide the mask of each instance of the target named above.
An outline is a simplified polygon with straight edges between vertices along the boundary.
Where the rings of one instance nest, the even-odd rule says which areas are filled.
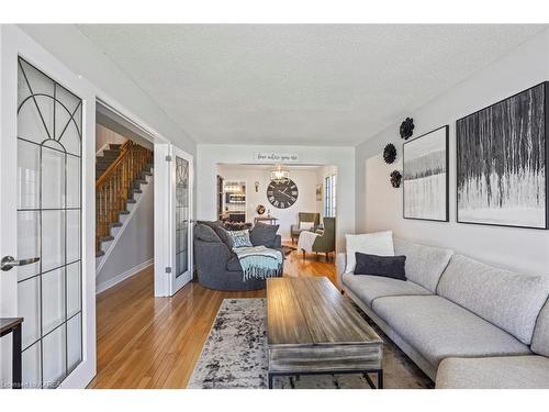
[[[97,275],[98,293],[135,275],[153,263],[154,244],[154,179],[142,185],[143,198],[128,216],[123,232]]]

